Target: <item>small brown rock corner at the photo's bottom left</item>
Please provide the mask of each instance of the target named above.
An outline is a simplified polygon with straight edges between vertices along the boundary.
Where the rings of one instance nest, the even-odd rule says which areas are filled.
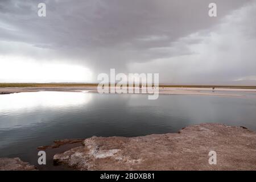
[[[19,158],[0,158],[0,171],[35,171],[35,166]]]

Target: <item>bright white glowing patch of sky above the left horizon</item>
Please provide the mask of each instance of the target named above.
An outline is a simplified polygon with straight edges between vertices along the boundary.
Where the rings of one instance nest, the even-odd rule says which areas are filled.
[[[27,57],[0,56],[1,82],[90,82],[88,68],[57,61],[38,63]]]

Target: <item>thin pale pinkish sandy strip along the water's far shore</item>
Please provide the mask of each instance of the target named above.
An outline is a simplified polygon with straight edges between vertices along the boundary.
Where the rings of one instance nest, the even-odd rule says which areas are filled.
[[[39,92],[39,91],[57,91],[57,92],[94,92],[97,93],[96,86],[65,86],[65,87],[26,87],[26,88],[0,88],[0,94],[20,93],[20,92]],[[227,92],[227,93],[225,93]],[[230,89],[215,88],[159,88],[159,94],[189,94],[189,95],[210,95],[210,96],[243,96],[239,92],[256,92],[256,89]]]

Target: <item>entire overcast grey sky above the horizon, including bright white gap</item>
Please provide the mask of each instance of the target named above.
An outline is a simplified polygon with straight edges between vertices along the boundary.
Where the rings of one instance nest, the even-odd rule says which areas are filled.
[[[253,0],[0,0],[0,82],[96,82],[115,68],[256,85],[255,17]]]

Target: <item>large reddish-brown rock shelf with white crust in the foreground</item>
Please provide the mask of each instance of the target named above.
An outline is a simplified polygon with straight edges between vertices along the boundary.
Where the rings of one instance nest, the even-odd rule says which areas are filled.
[[[79,170],[256,170],[256,134],[218,123],[144,137],[92,137],[83,144],[53,161]],[[216,165],[208,163],[212,150]]]

